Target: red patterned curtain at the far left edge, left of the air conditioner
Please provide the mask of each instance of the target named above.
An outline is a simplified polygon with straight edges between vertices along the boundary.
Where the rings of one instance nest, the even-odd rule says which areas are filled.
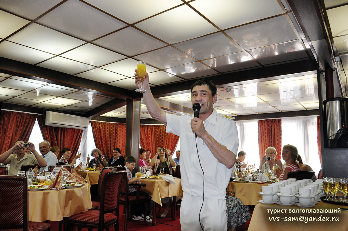
[[[28,141],[37,114],[0,111],[0,154],[13,147],[16,140]]]

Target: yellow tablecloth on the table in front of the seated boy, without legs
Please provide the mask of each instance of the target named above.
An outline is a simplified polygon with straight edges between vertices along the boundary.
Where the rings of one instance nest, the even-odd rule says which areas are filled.
[[[152,200],[162,206],[161,198],[182,196],[183,191],[181,188],[181,179],[174,179],[175,184],[166,182],[161,179],[140,179],[141,183],[145,183],[146,187],[141,187],[141,191],[144,191],[152,197]]]

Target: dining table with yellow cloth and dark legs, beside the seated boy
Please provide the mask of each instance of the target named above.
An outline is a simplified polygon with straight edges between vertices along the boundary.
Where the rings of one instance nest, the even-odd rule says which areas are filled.
[[[183,191],[181,188],[181,179],[174,178],[175,184],[166,182],[161,178],[140,179],[141,183],[145,183],[145,187],[141,187],[141,191],[149,194],[152,200],[152,225],[156,225],[157,209],[156,205],[162,206],[161,198],[173,197],[172,200],[172,220],[175,220],[176,196],[182,198]]]

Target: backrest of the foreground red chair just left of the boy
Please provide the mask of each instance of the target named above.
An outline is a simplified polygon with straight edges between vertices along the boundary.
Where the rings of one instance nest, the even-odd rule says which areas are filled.
[[[118,216],[120,182],[125,177],[127,177],[126,171],[105,173],[100,191],[99,225],[104,223],[104,213],[116,211],[116,216]]]

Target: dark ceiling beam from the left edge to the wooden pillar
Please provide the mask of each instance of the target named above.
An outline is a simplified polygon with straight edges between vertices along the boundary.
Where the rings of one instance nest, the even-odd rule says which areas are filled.
[[[131,90],[107,85],[101,82],[77,77],[71,74],[50,70],[44,67],[23,63],[4,57],[0,57],[0,72],[16,75],[27,79],[35,79],[39,81],[54,83],[57,85],[79,90],[92,90],[95,93],[117,97],[124,100],[127,98],[133,98],[135,95]]]

